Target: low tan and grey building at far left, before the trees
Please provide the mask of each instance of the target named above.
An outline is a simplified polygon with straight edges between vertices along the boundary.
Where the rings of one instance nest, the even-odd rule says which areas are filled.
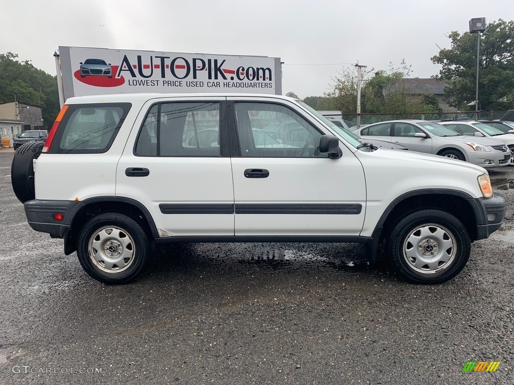
[[[43,106],[28,102],[11,102],[0,104],[0,134],[2,146],[19,136],[25,130],[46,129],[43,126]]]

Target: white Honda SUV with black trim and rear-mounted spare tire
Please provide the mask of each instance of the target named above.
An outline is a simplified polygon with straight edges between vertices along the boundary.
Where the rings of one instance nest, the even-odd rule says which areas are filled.
[[[136,278],[154,242],[281,241],[361,242],[440,283],[505,215],[485,169],[361,144],[277,95],[71,98],[12,171],[30,226],[106,283]]]

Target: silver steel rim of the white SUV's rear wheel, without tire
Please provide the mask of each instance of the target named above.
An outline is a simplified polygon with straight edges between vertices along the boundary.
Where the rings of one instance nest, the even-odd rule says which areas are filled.
[[[119,227],[107,226],[97,230],[89,238],[87,249],[91,262],[105,273],[120,273],[134,262],[134,241]]]

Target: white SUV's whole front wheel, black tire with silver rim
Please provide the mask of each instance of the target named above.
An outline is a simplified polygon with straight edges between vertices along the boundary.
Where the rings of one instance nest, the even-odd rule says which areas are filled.
[[[387,248],[393,268],[410,282],[446,282],[468,262],[468,232],[457,218],[444,211],[411,211],[392,226],[390,234]]]

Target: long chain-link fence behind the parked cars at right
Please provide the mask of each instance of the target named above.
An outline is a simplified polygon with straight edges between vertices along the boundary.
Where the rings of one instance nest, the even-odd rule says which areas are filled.
[[[452,112],[452,113],[361,113],[360,124],[371,124],[377,122],[385,122],[388,120],[397,119],[419,119],[419,120],[494,120],[500,119],[506,111],[479,111],[478,119],[476,119],[476,112]],[[325,114],[325,117],[332,119],[343,120],[346,122],[350,129],[357,128],[357,114]]]

